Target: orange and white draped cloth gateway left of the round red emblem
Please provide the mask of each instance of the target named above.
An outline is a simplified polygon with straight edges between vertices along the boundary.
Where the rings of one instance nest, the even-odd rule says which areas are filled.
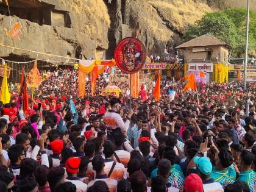
[[[91,73],[91,94],[94,95],[96,79],[107,66],[115,66],[115,60],[79,60],[78,82],[79,97],[85,96],[86,76]]]

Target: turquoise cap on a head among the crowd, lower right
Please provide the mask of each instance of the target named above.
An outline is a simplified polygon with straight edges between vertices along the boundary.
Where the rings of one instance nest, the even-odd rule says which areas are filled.
[[[194,157],[194,163],[196,163],[197,168],[204,175],[208,175],[212,172],[213,166],[207,157]]]

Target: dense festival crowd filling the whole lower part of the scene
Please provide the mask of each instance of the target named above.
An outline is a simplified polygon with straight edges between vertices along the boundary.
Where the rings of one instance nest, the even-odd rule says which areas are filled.
[[[0,102],[1,192],[256,191],[253,84],[163,81],[160,101],[130,100],[100,95],[104,77],[78,98],[76,70],[43,74],[29,110]]]

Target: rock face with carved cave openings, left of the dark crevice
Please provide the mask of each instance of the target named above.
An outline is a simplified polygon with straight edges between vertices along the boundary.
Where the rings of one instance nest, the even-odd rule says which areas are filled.
[[[1,15],[1,7],[3,10],[6,7],[4,1],[2,3],[1,1],[0,44],[65,57],[77,57],[80,54],[85,55],[88,59],[95,57],[95,54],[102,57],[102,50],[108,48],[107,30],[110,26],[110,18],[103,0],[9,0],[11,15],[18,12],[12,16],[12,25],[20,21],[23,26],[20,40],[12,40],[9,37],[9,30],[12,26],[10,26],[10,17]],[[27,16],[27,12],[34,14],[33,10],[43,12],[43,24],[38,24],[37,15],[23,19]],[[24,15],[21,16],[21,13]],[[65,26],[58,23],[58,20],[62,19],[62,15],[54,16],[53,13],[65,14]],[[69,27],[66,27],[66,18],[70,18]],[[47,20],[49,21],[46,24]],[[62,23],[62,21],[59,22]],[[0,47],[1,57],[8,57],[9,55],[13,57],[12,59],[15,59],[17,55],[25,55],[25,58],[32,59],[38,57],[41,59],[58,59],[48,55],[37,55]]]

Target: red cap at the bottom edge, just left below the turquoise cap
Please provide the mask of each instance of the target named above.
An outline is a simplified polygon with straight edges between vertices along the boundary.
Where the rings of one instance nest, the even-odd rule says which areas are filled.
[[[199,175],[192,173],[185,179],[186,192],[203,192],[203,183]]]

